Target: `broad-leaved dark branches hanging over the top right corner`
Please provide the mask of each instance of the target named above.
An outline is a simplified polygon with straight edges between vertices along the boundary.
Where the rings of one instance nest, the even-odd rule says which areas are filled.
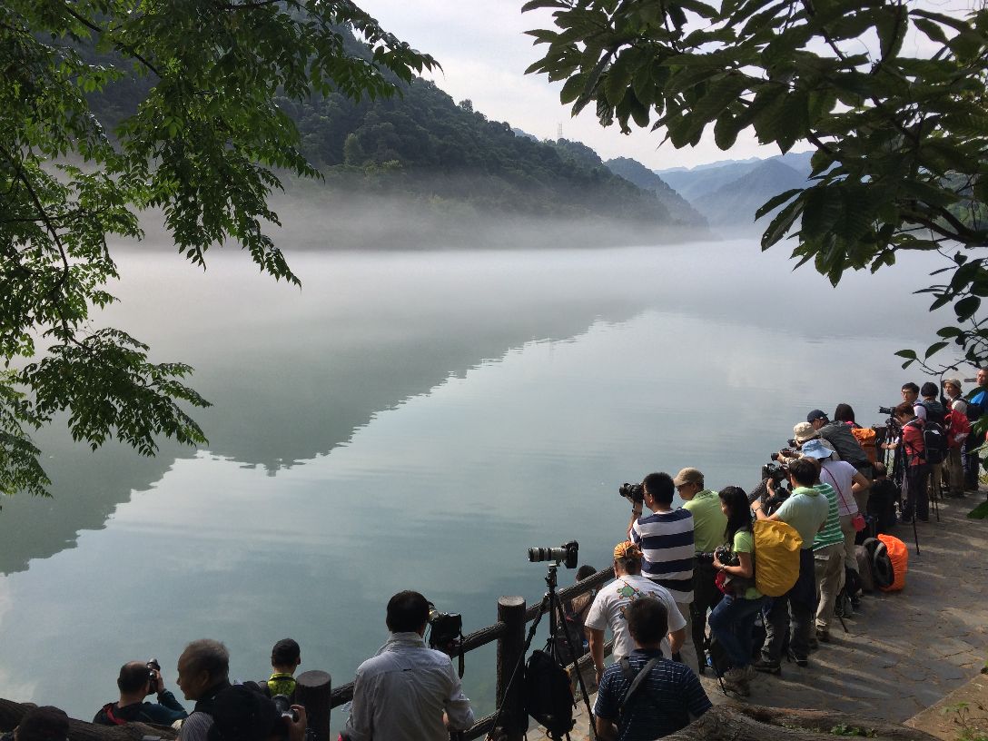
[[[677,147],[707,127],[728,149],[741,131],[782,152],[815,148],[812,183],[762,238],[836,285],[901,250],[945,257],[932,308],[952,304],[933,355],[988,361],[988,9],[955,17],[895,0],[533,0],[554,28],[529,72],[565,81],[561,100],[601,124],[651,126]],[[906,365],[914,351],[900,353]],[[956,362],[956,356],[946,367]]]

